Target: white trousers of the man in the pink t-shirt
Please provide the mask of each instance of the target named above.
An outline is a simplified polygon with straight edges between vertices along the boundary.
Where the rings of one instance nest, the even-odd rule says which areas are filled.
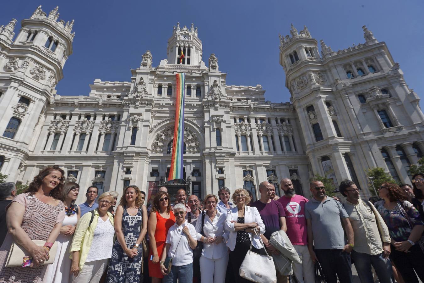
[[[315,266],[309,254],[308,245],[293,245],[302,263],[293,263],[293,273],[299,283],[315,282]]]

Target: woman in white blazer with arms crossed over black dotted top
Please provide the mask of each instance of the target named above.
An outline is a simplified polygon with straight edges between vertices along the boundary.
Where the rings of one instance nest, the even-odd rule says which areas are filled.
[[[262,252],[259,250],[262,245],[253,229],[256,228],[260,234],[263,234],[265,233],[265,225],[257,208],[246,205],[246,202],[250,201],[248,191],[237,189],[234,191],[232,197],[237,207],[233,207],[227,211],[225,230],[230,232],[227,247],[230,249],[230,261],[233,266],[235,282],[250,282],[240,277],[239,269],[249,250],[252,237],[252,251],[263,253],[263,249]]]

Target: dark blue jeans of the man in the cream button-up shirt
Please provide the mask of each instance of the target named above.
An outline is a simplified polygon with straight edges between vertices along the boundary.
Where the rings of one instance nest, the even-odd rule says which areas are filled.
[[[383,253],[379,255],[368,255],[363,252],[355,252],[354,250],[351,253],[356,271],[362,283],[374,283],[371,265],[374,266],[380,282],[393,283],[392,264],[389,259],[383,258]]]

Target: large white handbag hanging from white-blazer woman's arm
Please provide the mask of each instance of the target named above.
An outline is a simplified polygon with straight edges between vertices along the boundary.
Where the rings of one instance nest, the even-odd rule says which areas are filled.
[[[253,236],[250,242],[250,248],[247,252],[243,263],[240,266],[240,276],[257,283],[276,283],[277,275],[275,271],[274,261],[271,255],[265,249],[261,237],[258,235],[256,228],[254,229],[256,236],[262,244],[265,250],[265,255],[259,255],[256,252],[252,252]],[[271,267],[271,268],[270,268]]]

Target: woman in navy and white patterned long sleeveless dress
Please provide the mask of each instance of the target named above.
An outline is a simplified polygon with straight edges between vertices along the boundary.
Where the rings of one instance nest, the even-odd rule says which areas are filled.
[[[142,280],[141,242],[147,232],[147,209],[143,201],[137,186],[125,188],[114,218],[116,240],[107,272],[107,283],[138,283],[140,278]]]

